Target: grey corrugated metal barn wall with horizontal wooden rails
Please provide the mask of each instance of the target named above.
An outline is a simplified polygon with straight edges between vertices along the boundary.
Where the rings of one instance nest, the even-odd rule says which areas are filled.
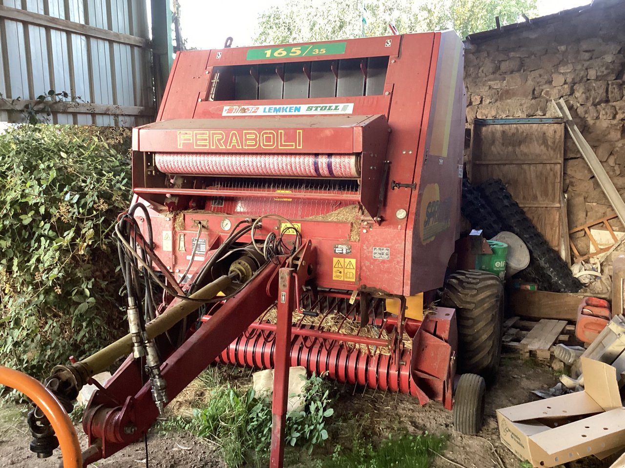
[[[0,2],[1,121],[20,122],[15,108],[50,89],[71,101],[51,105],[55,124],[153,120],[146,0]]]

